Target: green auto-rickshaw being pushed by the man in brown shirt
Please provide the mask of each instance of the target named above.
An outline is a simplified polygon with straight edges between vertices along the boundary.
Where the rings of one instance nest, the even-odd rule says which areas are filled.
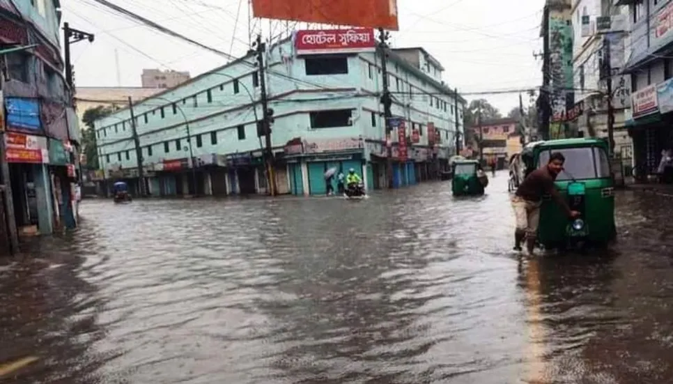
[[[536,141],[521,153],[526,174],[546,166],[553,152],[560,152],[566,158],[564,171],[556,178],[556,187],[571,210],[580,212],[580,217],[568,219],[557,203],[544,197],[538,243],[546,249],[608,245],[617,238],[608,144],[593,138]]]

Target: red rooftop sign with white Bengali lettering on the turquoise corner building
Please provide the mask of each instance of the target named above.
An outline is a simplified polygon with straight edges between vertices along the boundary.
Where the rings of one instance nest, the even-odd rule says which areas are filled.
[[[297,31],[297,54],[325,54],[373,51],[376,48],[373,28],[316,29]]]

